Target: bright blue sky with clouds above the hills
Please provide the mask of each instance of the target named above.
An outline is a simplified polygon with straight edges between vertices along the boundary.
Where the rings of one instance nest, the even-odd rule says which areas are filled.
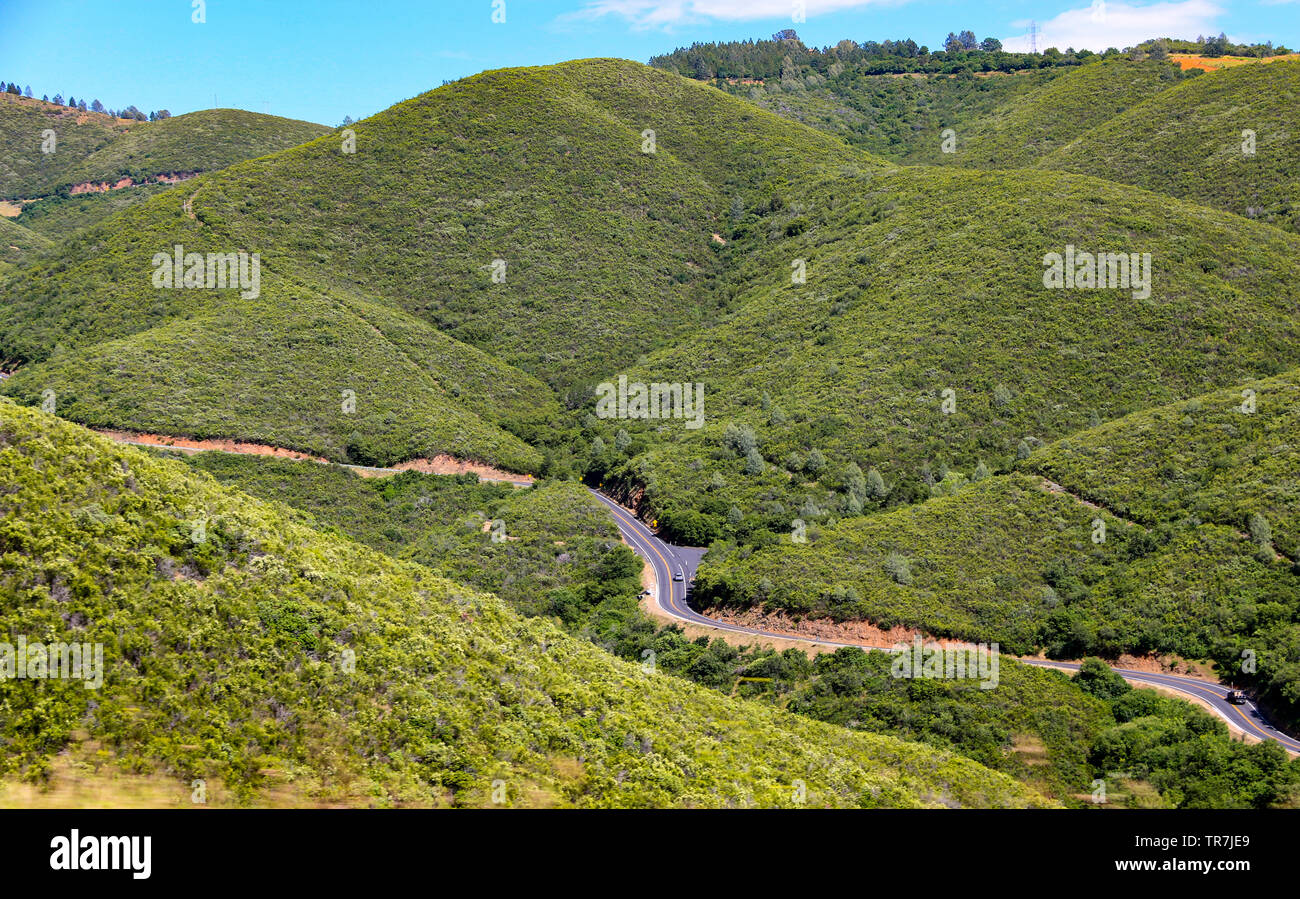
[[[202,23],[194,3],[0,0],[0,78],[110,108],[179,114],[216,103],[337,125],[484,69],[644,62],[783,27],[816,45],[910,36],[931,47],[971,29],[1010,49],[1034,19],[1062,49],[1218,31],[1300,47],[1300,0],[803,0],[802,22],[796,0],[204,0]]]

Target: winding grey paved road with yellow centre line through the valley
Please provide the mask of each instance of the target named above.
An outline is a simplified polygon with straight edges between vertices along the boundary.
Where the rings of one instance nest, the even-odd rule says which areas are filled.
[[[705,551],[689,547],[676,547],[670,543],[664,543],[654,534],[653,530],[650,530],[650,527],[645,525],[645,522],[637,518],[632,511],[624,508],[611,498],[602,494],[599,490],[592,490],[592,495],[603,503],[604,507],[614,514],[614,521],[619,526],[619,533],[623,535],[623,539],[627,540],[628,546],[632,547],[632,550],[654,569],[656,585],[654,591],[655,601],[666,614],[686,624],[703,625],[750,637],[768,637],[783,640],[793,640],[796,643],[807,643],[809,646],[852,646],[864,650],[887,650],[887,647],[870,646],[866,643],[815,640],[806,637],[793,637],[790,634],[742,627],[740,625],[718,621],[701,614],[696,609],[690,608],[688,599],[690,596],[690,582],[696,577],[696,569],[699,566],[699,560],[703,557]],[[675,581],[673,574],[679,572],[681,573],[681,581]],[[664,590],[663,585],[668,585],[668,589]],[[1027,665],[1037,665],[1040,668],[1057,668],[1061,670],[1079,669],[1078,663],[1052,661],[1044,659],[1015,659],[1017,661],[1022,661]],[[1258,739],[1277,741],[1288,752],[1300,753],[1300,741],[1282,733],[1269,724],[1268,718],[1264,717],[1264,713],[1253,702],[1247,702],[1244,705],[1235,705],[1227,702],[1228,687],[1214,683],[1213,681],[1202,681],[1200,678],[1184,677],[1182,674],[1139,672],[1130,668],[1115,668],[1114,670],[1126,681],[1147,686],[1165,687],[1166,690],[1180,692],[1193,700],[1200,700],[1201,703],[1209,705],[1214,713],[1223,718],[1223,721],[1234,730],[1251,734]]]

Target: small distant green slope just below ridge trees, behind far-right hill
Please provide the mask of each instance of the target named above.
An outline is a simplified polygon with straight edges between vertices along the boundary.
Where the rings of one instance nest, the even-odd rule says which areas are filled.
[[[1171,62],[1089,62],[971,121],[968,129],[958,130],[956,153],[942,153],[936,139],[909,161],[991,169],[1034,165],[1183,78]]]

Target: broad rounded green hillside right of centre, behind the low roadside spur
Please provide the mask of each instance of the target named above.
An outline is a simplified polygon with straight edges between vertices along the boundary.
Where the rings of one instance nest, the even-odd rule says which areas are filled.
[[[802,233],[788,236],[792,225]],[[641,452],[610,461],[651,486],[651,513],[757,514],[775,499],[788,533],[806,495],[844,509],[850,461],[880,469],[888,501],[916,499],[926,465],[1006,468],[1022,438],[1300,361],[1295,236],[1109,182],[909,169],[822,186],[742,230],[728,248],[733,312],[632,373],[706,385],[702,430],[644,429]],[[1044,288],[1043,255],[1067,243],[1150,252],[1152,296]],[[805,286],[790,285],[793,259],[807,260]],[[753,427],[764,474],[720,446],[732,422]],[[792,479],[790,453],[812,449],[827,468]],[[710,487],[714,474],[725,487]]]

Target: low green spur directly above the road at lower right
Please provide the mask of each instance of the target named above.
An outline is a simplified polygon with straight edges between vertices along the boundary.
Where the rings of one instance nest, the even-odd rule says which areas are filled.
[[[941,481],[919,505],[814,524],[806,543],[715,544],[697,596],[1056,657],[1214,659],[1295,722],[1296,375],[1248,388],[1134,413],[1019,464],[1049,481]]]

